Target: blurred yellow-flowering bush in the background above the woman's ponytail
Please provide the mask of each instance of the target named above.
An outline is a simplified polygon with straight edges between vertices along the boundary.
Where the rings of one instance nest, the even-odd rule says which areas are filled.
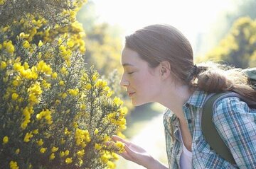
[[[256,21],[239,18],[220,44],[196,62],[217,60],[240,68],[256,66]]]

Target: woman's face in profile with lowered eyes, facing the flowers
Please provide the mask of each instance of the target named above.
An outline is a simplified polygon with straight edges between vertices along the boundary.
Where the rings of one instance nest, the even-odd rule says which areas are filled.
[[[132,49],[124,47],[122,51],[124,73],[120,85],[127,88],[127,94],[133,105],[142,105],[156,101],[160,91],[161,70],[149,67]]]

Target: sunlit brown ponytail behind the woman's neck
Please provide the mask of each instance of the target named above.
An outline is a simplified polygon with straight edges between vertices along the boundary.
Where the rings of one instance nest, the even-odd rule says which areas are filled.
[[[194,66],[193,69],[196,70],[191,70],[191,74],[188,77],[188,83],[193,88],[198,88],[208,93],[234,91],[250,100],[256,98],[256,91],[250,86],[248,78],[242,72],[242,69],[213,62]]]

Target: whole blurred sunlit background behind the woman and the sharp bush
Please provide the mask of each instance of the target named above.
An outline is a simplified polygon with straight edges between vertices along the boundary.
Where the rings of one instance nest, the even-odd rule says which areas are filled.
[[[255,0],[182,0],[179,4],[171,0],[89,0],[82,7],[78,21],[86,33],[85,62],[88,67],[95,64],[106,79],[115,79],[109,84],[129,109],[127,139],[167,165],[161,122],[164,107],[156,103],[133,107],[119,86],[124,35],[142,25],[169,23],[191,41],[197,63],[214,60],[244,69],[256,66],[255,8]],[[142,167],[120,158],[117,168]]]

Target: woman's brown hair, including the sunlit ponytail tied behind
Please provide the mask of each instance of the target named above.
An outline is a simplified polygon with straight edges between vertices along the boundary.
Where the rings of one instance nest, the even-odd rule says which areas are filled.
[[[125,47],[134,50],[156,67],[160,62],[171,64],[171,74],[177,81],[208,93],[235,91],[247,98],[255,98],[256,91],[247,85],[247,77],[240,69],[213,62],[193,64],[193,50],[187,38],[171,25],[149,25],[125,38]]]

